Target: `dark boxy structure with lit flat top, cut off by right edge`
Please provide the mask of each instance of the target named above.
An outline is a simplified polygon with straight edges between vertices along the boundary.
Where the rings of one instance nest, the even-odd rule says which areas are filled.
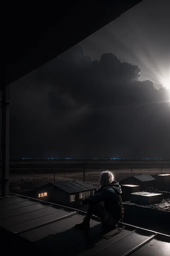
[[[170,192],[170,174],[155,175],[155,179],[158,190]]]

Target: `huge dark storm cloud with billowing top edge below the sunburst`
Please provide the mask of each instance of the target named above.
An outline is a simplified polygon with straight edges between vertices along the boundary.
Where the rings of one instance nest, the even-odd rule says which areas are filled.
[[[170,92],[81,46],[11,85],[11,158],[169,158]]]

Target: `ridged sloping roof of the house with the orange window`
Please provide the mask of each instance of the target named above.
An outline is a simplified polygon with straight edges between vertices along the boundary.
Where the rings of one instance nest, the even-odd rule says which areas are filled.
[[[82,191],[87,191],[91,189],[96,189],[95,186],[79,180],[55,182],[55,183],[52,183],[52,185],[64,190],[67,193],[82,192]]]

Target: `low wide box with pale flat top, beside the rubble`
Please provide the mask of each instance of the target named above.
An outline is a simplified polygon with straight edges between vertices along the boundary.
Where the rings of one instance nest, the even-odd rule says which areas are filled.
[[[130,194],[130,200],[141,204],[152,204],[163,200],[163,194],[135,192]]]

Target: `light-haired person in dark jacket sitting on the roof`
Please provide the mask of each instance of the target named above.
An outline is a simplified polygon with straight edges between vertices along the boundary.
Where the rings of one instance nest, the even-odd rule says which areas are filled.
[[[99,217],[105,226],[116,226],[121,219],[119,195],[122,193],[121,186],[115,180],[111,171],[104,171],[100,176],[101,188],[97,189],[94,195],[85,197],[80,203],[81,206],[89,204],[87,215],[83,222],[76,224],[75,228],[90,228],[92,215]],[[104,202],[104,206],[100,202]]]

